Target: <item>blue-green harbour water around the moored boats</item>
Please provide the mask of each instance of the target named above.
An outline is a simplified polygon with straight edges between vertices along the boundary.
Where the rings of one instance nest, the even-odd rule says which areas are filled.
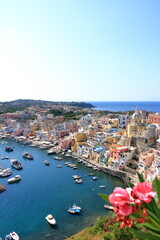
[[[6,186],[7,191],[0,194],[0,237],[11,231],[16,231],[20,240],[64,239],[86,226],[90,226],[100,215],[107,210],[103,207],[104,201],[98,193],[110,194],[115,186],[123,186],[122,182],[103,172],[96,172],[98,180],[92,181],[88,173],[93,169],[77,163],[77,160],[63,157],[62,161],[54,160],[53,155],[47,155],[45,150],[31,148],[12,140],[8,144],[0,144],[1,156],[17,158],[23,164],[23,170],[12,169],[13,175],[20,174],[19,183],[7,184],[8,178],[0,178],[0,183]],[[13,152],[5,152],[5,146],[13,146]],[[28,151],[34,160],[27,160],[22,153]],[[1,160],[3,168],[10,166],[9,160]],[[44,165],[44,160],[50,166]],[[67,167],[65,161],[76,163],[77,170]],[[62,168],[57,168],[57,165]],[[72,175],[78,174],[83,178],[82,184],[75,184]],[[100,189],[106,185],[106,189]],[[80,215],[71,215],[67,212],[73,203],[82,207]],[[45,216],[54,215],[57,225],[52,228],[45,220]]]

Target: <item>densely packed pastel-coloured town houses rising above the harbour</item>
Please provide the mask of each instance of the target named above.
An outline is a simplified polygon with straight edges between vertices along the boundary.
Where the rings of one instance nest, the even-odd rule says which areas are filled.
[[[54,116],[52,110],[72,110],[78,117],[65,119],[64,115]],[[54,109],[35,106],[14,114],[1,114],[0,136],[40,149],[69,150],[78,158],[116,171],[127,171],[128,162],[138,155],[138,171],[148,181],[160,173],[159,113],[135,109],[132,114],[104,115],[68,106]]]

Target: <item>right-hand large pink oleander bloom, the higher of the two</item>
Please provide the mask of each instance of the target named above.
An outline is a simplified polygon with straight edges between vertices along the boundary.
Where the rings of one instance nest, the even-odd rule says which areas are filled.
[[[137,183],[133,187],[132,196],[137,197],[143,202],[150,203],[151,197],[155,197],[156,193],[152,191],[152,186],[150,183],[143,182]]]

